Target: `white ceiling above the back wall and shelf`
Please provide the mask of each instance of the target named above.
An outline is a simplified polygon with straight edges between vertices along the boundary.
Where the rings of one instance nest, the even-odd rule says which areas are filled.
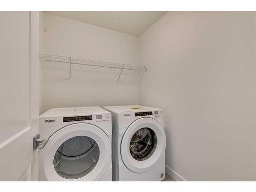
[[[46,13],[139,36],[167,11],[46,11]]]

